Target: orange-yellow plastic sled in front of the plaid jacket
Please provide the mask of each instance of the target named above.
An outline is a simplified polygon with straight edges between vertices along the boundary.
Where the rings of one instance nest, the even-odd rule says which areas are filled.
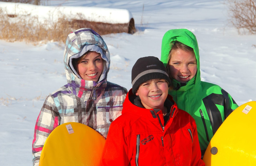
[[[46,139],[39,166],[98,166],[104,144],[105,139],[84,124],[61,124]]]

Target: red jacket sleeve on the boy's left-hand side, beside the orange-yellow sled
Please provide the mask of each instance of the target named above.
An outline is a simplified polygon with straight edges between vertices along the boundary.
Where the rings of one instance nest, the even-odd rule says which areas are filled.
[[[127,140],[130,139],[125,138],[124,129],[120,126],[120,124],[116,123],[116,120],[113,121],[109,127],[108,137],[103,148],[100,165],[128,166],[130,160],[128,159],[129,142]]]

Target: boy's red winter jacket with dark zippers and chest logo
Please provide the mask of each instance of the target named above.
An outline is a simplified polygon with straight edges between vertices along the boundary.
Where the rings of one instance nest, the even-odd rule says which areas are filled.
[[[172,96],[164,103],[170,110],[165,126],[162,110],[140,108],[134,99],[130,90],[122,115],[110,125],[102,166],[204,165],[195,120],[177,108]]]

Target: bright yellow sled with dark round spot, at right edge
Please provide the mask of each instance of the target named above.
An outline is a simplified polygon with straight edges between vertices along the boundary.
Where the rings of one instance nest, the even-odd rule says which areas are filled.
[[[241,105],[227,117],[203,160],[206,166],[256,165],[256,101]]]

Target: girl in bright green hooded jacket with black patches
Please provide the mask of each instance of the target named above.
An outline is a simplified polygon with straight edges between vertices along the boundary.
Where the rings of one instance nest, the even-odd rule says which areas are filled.
[[[196,120],[204,155],[214,133],[238,105],[218,85],[201,81],[198,44],[189,30],[172,29],[164,34],[161,61],[172,80],[169,94]]]

